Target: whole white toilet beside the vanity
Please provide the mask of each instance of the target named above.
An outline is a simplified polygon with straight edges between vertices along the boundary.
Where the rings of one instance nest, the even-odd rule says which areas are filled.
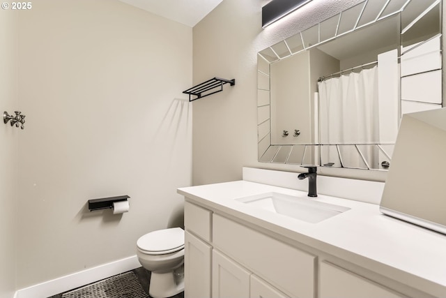
[[[148,294],[167,298],[184,290],[184,230],[157,230],[139,237],[137,256],[142,267],[151,271]]]

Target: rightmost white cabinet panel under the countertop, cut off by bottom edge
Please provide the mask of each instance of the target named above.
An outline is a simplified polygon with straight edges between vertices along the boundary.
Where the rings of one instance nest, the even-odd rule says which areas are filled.
[[[403,295],[384,288],[382,285],[374,283],[374,281],[370,281],[328,262],[322,262],[320,269],[320,298],[403,297]]]

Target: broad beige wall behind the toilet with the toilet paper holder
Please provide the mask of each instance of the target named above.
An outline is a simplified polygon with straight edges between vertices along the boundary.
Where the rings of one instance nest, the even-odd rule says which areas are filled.
[[[176,188],[192,179],[192,29],[117,0],[33,4],[19,14],[17,288],[135,255],[142,234],[182,224]],[[130,212],[86,207],[116,195]]]

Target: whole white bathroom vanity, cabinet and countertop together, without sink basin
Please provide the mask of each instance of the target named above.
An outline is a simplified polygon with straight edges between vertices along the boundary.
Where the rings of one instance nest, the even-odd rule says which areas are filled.
[[[373,200],[383,185],[321,176],[337,197],[314,200],[348,211],[308,223],[245,200],[305,196],[292,189],[295,173],[251,169],[244,177],[253,181],[178,188],[185,196],[186,297],[446,297],[446,236],[380,214]],[[222,290],[231,285],[243,292]]]

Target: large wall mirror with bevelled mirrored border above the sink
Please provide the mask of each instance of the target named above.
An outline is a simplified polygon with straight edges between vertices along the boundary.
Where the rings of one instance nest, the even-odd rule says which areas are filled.
[[[258,54],[259,161],[387,170],[442,107],[440,0],[367,0]]]

